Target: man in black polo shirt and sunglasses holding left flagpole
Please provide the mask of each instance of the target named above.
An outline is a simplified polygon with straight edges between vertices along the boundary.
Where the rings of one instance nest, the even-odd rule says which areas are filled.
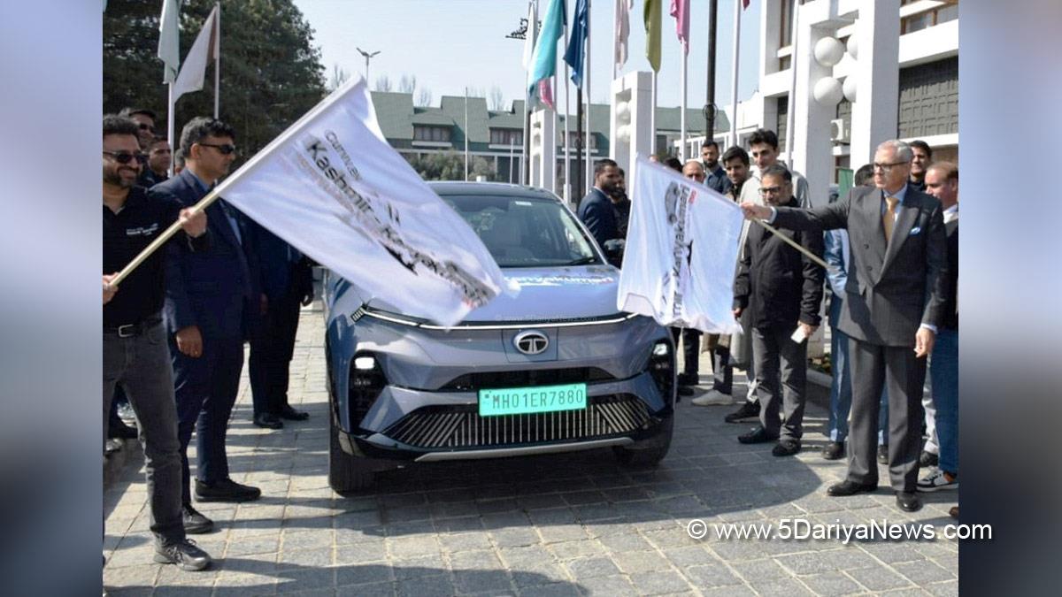
[[[170,245],[206,251],[207,220],[203,211],[192,215],[136,186],[143,164],[137,131],[129,118],[103,117],[103,437],[115,388],[121,386],[143,444],[155,560],[199,570],[210,557],[186,540],[182,518],[177,413],[161,317],[166,251],[154,252],[120,288],[112,280],[178,218],[184,232]]]

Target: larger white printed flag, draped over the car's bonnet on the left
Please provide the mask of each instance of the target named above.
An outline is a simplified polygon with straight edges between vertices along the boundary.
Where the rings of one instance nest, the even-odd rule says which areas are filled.
[[[383,140],[360,75],[216,190],[366,301],[409,315],[452,326],[506,284],[472,227]]]

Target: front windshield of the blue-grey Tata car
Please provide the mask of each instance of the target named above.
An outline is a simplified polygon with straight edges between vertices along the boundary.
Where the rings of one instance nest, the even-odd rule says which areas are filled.
[[[533,197],[444,195],[502,268],[599,263],[571,214]]]

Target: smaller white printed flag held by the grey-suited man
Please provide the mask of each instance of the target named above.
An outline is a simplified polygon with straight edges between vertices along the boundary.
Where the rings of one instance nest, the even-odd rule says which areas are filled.
[[[640,155],[616,306],[662,325],[733,334],[741,209]]]

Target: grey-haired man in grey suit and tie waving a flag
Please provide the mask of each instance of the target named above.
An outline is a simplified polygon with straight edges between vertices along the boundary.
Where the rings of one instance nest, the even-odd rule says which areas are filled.
[[[874,461],[883,382],[889,392],[889,476],[901,510],[922,508],[915,494],[925,356],[932,351],[948,297],[947,246],[940,202],[908,187],[913,152],[886,141],[874,153],[874,188],[813,209],[742,203],[749,219],[789,229],[847,228],[852,268],[838,327],[849,336],[852,428],[847,478],[832,496],[877,489]]]

